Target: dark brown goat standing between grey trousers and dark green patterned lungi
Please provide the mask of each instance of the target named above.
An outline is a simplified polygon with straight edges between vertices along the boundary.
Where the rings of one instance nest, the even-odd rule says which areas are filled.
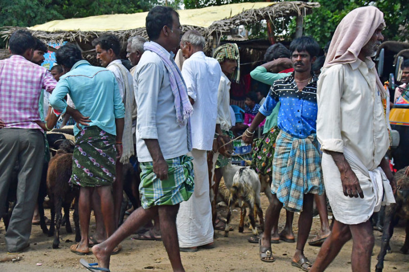
[[[71,203],[75,199],[74,224],[75,241],[81,240],[78,214],[79,189],[77,186],[71,187],[69,180],[73,171],[73,151],[74,143],[70,140],[64,140],[58,147],[58,151],[49,163],[47,172],[47,189],[49,192],[51,208],[51,226],[49,236],[54,236],[53,249],[57,249],[60,243],[59,233],[61,226],[61,207],[64,208],[64,214],[67,216],[65,229],[67,233],[72,233],[69,220]],[[64,215],[64,216],[65,216]],[[57,231],[55,232],[55,228]]]

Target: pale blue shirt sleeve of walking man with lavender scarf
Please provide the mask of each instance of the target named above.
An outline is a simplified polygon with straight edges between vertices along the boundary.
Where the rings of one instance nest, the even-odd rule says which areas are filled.
[[[163,71],[156,63],[147,63],[138,71],[135,97],[138,105],[137,130],[141,139],[157,139],[157,98]]]

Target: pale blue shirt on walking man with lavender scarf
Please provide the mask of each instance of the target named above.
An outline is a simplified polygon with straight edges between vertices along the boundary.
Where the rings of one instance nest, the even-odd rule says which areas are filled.
[[[173,54],[169,53],[169,58]],[[140,162],[151,162],[152,157],[144,139],[157,139],[165,160],[186,155],[187,126],[176,122],[174,95],[169,73],[162,59],[145,51],[135,71],[133,89],[138,105],[137,154]]]

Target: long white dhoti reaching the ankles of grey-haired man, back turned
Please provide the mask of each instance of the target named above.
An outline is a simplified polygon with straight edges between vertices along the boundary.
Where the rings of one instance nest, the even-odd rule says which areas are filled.
[[[193,149],[191,155],[195,188],[188,201],[180,203],[176,226],[180,248],[213,242],[212,207],[209,195],[207,151]]]

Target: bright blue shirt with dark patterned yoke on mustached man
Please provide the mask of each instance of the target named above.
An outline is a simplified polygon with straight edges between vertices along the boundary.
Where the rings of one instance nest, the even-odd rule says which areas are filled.
[[[316,81],[317,78],[313,76],[307,86],[299,91],[294,73],[276,80],[259,112],[268,116],[280,102],[278,127],[294,137],[307,138],[316,133]]]

